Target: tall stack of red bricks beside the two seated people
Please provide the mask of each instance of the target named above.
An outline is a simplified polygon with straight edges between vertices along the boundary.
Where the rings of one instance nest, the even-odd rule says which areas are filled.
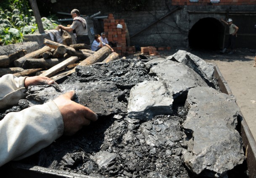
[[[133,54],[135,52],[135,47],[127,47],[126,44],[126,24],[124,19],[115,19],[113,14],[108,14],[108,18],[104,19],[104,32],[108,42],[116,43],[116,47],[112,47],[113,50],[120,56],[125,56],[128,54]],[[122,29],[116,28],[117,24],[123,26]]]

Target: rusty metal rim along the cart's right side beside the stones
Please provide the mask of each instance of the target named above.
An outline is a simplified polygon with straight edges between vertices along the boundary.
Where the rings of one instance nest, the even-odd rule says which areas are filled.
[[[222,93],[231,95],[231,89],[227,84],[227,81],[225,81],[224,77],[222,76],[222,73],[219,71],[219,68],[217,65],[214,65],[214,77],[218,79],[219,87]],[[239,112],[238,116],[238,126],[240,126],[240,134],[243,140],[243,144],[245,146],[245,157],[247,162],[247,168],[248,168],[248,174],[249,178],[255,178],[256,177],[256,142],[253,138],[253,135],[251,134],[251,130],[249,129],[248,124],[245,121],[245,118],[243,117],[243,114],[241,111]]]

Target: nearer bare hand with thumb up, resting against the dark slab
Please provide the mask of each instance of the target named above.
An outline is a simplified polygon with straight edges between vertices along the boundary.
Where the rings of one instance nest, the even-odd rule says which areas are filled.
[[[98,120],[98,115],[88,107],[71,100],[74,95],[75,91],[71,90],[53,100],[61,111],[65,135],[74,135],[83,126],[88,126],[91,120]]]

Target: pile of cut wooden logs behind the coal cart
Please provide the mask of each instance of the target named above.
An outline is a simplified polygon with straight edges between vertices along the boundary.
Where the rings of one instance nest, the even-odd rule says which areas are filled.
[[[74,73],[77,65],[108,63],[119,58],[106,46],[95,52],[86,44],[67,46],[49,39],[44,39],[44,44],[44,47],[29,54],[21,50],[9,56],[0,55],[0,77],[9,73],[17,77],[39,75],[57,81]]]

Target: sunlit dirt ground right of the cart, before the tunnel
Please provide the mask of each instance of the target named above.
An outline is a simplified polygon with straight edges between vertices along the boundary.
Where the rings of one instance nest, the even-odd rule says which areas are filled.
[[[237,98],[237,104],[256,139],[256,67],[253,67],[256,50],[236,49],[232,55],[222,54],[218,50],[186,51],[218,66],[232,94]],[[161,56],[166,57],[177,50],[159,52]]]

